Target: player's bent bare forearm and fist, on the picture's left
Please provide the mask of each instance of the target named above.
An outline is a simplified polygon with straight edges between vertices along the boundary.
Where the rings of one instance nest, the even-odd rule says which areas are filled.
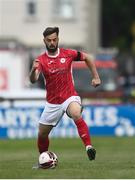
[[[32,68],[31,68],[31,71],[30,71],[30,81],[31,81],[31,83],[35,83],[38,80],[39,75],[40,75],[39,60],[36,59],[36,60],[33,61]]]

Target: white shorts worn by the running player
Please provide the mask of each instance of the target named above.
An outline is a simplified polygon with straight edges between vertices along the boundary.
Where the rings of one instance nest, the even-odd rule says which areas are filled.
[[[81,104],[81,99],[79,96],[71,96],[62,104],[50,104],[46,102],[45,108],[39,119],[39,123],[56,126],[71,102]]]

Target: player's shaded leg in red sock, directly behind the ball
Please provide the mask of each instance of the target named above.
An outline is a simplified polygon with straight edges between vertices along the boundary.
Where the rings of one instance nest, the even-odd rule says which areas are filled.
[[[44,125],[39,123],[39,130],[38,130],[38,150],[39,153],[42,153],[44,151],[48,151],[49,147],[49,133],[52,130],[52,125]]]

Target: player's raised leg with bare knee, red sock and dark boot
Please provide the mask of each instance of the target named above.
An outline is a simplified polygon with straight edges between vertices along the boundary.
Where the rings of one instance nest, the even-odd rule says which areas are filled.
[[[71,102],[67,108],[67,114],[72,117],[76,124],[78,134],[86,147],[89,159],[94,160],[96,150],[92,147],[88,126],[82,118],[81,105],[78,102]]]

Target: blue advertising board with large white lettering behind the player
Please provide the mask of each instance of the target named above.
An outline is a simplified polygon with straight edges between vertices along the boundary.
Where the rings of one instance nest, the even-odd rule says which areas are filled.
[[[0,108],[0,138],[34,138],[43,107]],[[135,106],[87,105],[85,119],[91,135],[134,136]],[[51,133],[52,137],[78,137],[74,122],[66,114]]]

